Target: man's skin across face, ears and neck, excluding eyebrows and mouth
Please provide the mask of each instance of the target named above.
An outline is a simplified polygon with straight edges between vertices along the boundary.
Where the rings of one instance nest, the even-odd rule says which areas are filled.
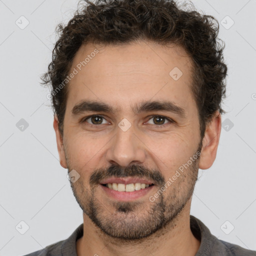
[[[84,233],[76,242],[77,255],[195,255],[200,241],[189,226],[191,195],[198,167],[209,168],[216,157],[221,116],[216,112],[201,140],[189,87],[192,64],[181,47],[145,41],[122,46],[88,43],[79,48],[70,70],[95,48],[99,52],[68,83],[63,138],[56,116],[53,121],[60,164],[80,175],[70,182],[83,210]],[[169,75],[174,67],[183,73],[178,80]],[[104,102],[118,111],[72,116],[72,107],[82,99]],[[134,114],[132,107],[143,100],[171,100],[184,108],[186,116],[162,110]],[[103,119],[80,122],[92,114]],[[153,118],[159,115],[174,122]],[[118,126],[123,118],[131,124],[125,132]],[[150,201],[149,196],[198,151],[200,157]],[[110,198],[98,183],[110,174],[136,173],[155,185],[133,201]]]

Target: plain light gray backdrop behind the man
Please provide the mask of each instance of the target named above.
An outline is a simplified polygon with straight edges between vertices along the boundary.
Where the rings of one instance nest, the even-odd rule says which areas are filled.
[[[51,59],[54,28],[69,20],[77,2],[0,0],[0,255],[41,249],[66,239],[82,223],[67,169],[59,164],[49,91],[39,85]],[[229,29],[220,24],[219,33],[228,65],[223,104],[228,113],[222,121],[234,125],[221,129],[214,164],[199,170],[191,214],[219,239],[256,250],[256,1],[193,3],[226,27],[227,15],[234,21]],[[24,29],[15,24],[21,15],[29,21]],[[16,127],[21,118],[29,124],[23,131]],[[29,226],[24,234],[15,228],[21,220]]]

